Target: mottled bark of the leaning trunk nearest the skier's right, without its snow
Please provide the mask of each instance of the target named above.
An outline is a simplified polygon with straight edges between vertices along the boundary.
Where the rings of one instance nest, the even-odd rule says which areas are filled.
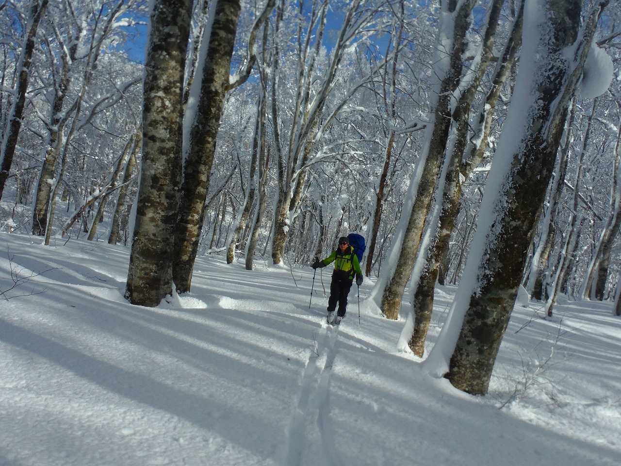
[[[438,91],[438,101],[433,111],[433,128],[428,153],[422,169],[422,175],[416,191],[416,198],[409,213],[406,232],[401,244],[401,252],[397,259],[394,272],[381,299],[381,311],[389,319],[397,319],[401,309],[401,299],[406,288],[406,283],[412,274],[414,261],[419,250],[420,239],[422,237],[425,218],[429,211],[435,190],[440,165],[442,165],[443,155],[448,139],[448,130],[451,125],[451,96],[456,86],[460,83],[461,70],[463,68],[462,55],[467,45],[466,32],[471,21],[471,12],[476,3],[467,0],[459,5],[456,11],[456,2],[448,2],[449,6],[444,7],[447,13],[454,15],[454,29],[451,39],[451,49],[446,50],[450,65],[443,76]]]

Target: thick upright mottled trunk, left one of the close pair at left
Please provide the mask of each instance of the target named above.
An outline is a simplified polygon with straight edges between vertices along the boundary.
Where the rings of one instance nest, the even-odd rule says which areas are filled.
[[[159,0],[151,12],[144,82],[142,173],[125,298],[157,306],[170,294],[181,185],[183,75],[191,0]]]

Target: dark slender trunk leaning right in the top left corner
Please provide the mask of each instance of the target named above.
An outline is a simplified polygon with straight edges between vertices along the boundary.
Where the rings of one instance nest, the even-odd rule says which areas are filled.
[[[22,50],[22,56],[19,59],[19,78],[17,79],[17,87],[15,89],[14,103],[9,114],[7,128],[2,139],[2,148],[0,151],[0,200],[4,192],[4,185],[9,178],[9,171],[13,163],[13,157],[17,148],[17,138],[19,130],[22,126],[22,116],[24,115],[24,107],[26,103],[26,91],[28,90],[28,82],[30,77],[30,65],[32,64],[32,53],[35,48],[35,36],[39,28],[39,22],[48,0],[32,0],[30,4],[29,24],[26,26],[27,36]]]

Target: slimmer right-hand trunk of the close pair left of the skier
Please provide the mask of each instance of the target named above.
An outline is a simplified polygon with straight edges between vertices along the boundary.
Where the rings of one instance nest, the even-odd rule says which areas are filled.
[[[180,293],[189,291],[191,286],[205,218],[205,201],[214,162],[222,104],[230,89],[230,62],[240,12],[239,0],[218,0],[215,6],[209,46],[202,67],[196,114],[191,122],[175,232],[173,279]]]

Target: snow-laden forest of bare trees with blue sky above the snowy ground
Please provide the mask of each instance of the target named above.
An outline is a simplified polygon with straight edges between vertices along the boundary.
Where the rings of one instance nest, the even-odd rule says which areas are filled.
[[[0,231],[126,247],[132,304],[359,233],[474,395],[520,294],[621,316],[618,0],[2,0],[0,34]]]

